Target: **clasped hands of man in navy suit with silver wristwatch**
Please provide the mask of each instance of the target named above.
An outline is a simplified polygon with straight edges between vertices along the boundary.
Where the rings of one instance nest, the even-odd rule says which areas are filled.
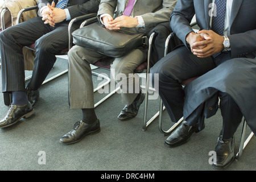
[[[212,30],[201,30],[190,32],[186,38],[191,47],[191,51],[197,57],[208,57],[224,49],[222,42],[224,37],[216,34]]]

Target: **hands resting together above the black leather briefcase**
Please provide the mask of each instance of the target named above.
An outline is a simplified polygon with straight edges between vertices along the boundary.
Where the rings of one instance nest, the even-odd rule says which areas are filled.
[[[118,16],[113,19],[112,16],[103,16],[102,21],[105,27],[109,30],[119,30],[121,27],[133,28],[138,26],[138,18],[130,16]]]

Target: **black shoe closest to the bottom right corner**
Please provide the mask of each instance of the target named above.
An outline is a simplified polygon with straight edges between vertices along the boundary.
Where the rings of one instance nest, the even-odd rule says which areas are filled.
[[[234,160],[234,137],[224,140],[220,135],[215,152],[216,161],[213,161],[213,167],[217,169],[228,168]]]

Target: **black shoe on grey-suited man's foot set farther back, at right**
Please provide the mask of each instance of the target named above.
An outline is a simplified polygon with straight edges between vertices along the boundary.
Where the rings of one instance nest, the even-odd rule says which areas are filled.
[[[118,115],[118,119],[121,121],[127,121],[129,119],[133,119],[136,117],[139,111],[139,106],[141,106],[142,102],[144,101],[145,95],[143,93],[139,93],[138,96],[135,98],[133,103],[130,105],[125,105],[122,111]]]

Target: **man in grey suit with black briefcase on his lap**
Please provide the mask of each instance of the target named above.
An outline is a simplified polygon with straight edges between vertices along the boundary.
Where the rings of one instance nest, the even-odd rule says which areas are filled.
[[[115,0],[101,1],[98,10],[98,19],[109,30],[130,28],[135,32],[148,33],[159,23],[168,22],[174,9],[176,0]],[[131,7],[131,8],[130,8]],[[127,11],[129,10],[130,11]],[[125,107],[118,115],[118,119],[126,121],[134,118],[139,106],[144,100],[144,94],[128,93],[129,86],[139,84],[138,75],[134,69],[146,60],[147,51],[137,48],[127,55],[114,59],[111,64],[112,75],[119,73],[126,75],[127,85],[122,85],[121,97]],[[61,139],[61,143],[78,142],[84,135],[100,131],[100,122],[94,112],[92,71],[90,64],[106,57],[96,51],[74,46],[68,53],[69,58],[69,88],[71,109],[82,109],[82,119],[74,128]],[[135,79],[134,79],[135,78]],[[134,81],[135,80],[135,81]],[[119,81],[115,77],[117,84]],[[129,83],[131,85],[129,85]]]

